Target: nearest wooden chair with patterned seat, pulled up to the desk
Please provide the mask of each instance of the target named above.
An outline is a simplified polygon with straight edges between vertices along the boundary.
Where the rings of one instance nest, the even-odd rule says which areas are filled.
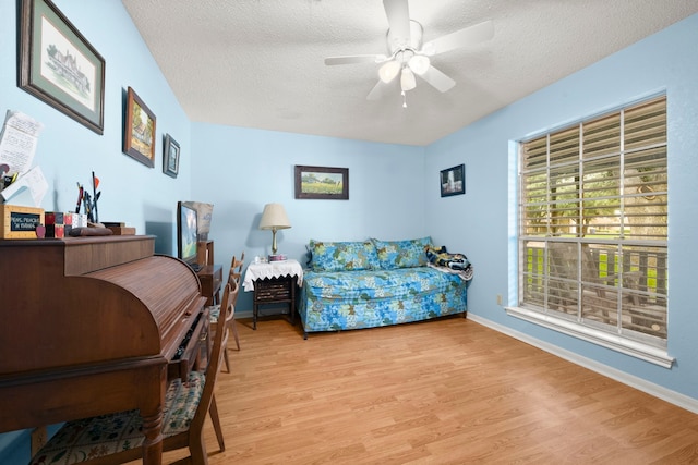
[[[225,322],[232,319],[232,289],[226,285],[222,297]],[[185,382],[170,382],[163,412],[163,450],[189,448],[189,462],[207,464],[203,426],[210,414],[220,450],[225,450],[214,388],[224,347],[228,342],[228,325],[214,336],[210,362],[205,374],[191,371]],[[31,464],[121,464],[142,457],[145,437],[143,419],[137,411],[120,412],[67,423],[37,452]]]

